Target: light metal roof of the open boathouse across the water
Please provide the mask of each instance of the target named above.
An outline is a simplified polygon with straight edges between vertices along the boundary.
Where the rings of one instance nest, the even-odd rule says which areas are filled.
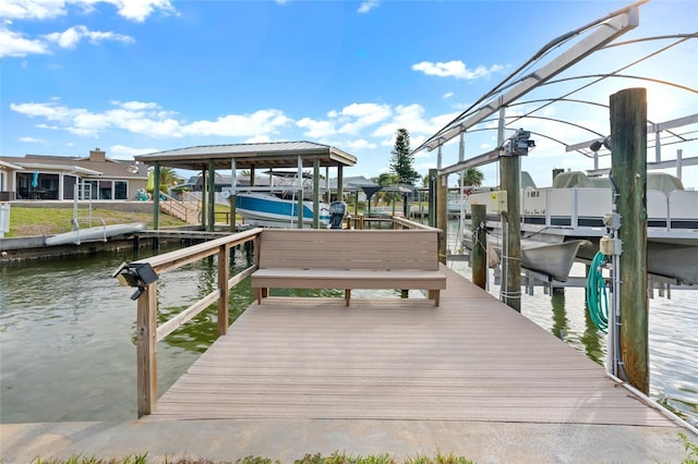
[[[298,157],[303,168],[312,168],[315,159],[321,167],[354,166],[357,158],[336,147],[313,142],[270,142],[260,144],[203,145],[140,155],[134,158],[146,164],[159,162],[170,168],[203,170],[210,160],[216,169],[230,169],[236,160],[237,169],[298,168]]]

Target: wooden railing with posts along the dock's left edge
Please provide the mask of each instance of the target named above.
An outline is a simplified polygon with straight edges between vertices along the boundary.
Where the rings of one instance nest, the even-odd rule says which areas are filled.
[[[156,274],[177,269],[208,256],[218,255],[217,289],[171,319],[157,326],[157,281],[146,285],[137,301],[136,359],[139,417],[151,414],[157,405],[157,342],[172,333],[186,321],[218,302],[218,335],[228,332],[228,295],[231,288],[242,282],[256,269],[255,264],[230,277],[230,249],[246,242],[258,242],[263,229],[234,233],[183,249],[133,261],[132,265],[148,264]],[[256,248],[255,248],[256,249]],[[255,254],[256,255],[256,254]]]

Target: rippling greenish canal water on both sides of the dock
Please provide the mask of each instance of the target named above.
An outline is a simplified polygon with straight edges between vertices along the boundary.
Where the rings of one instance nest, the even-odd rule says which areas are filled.
[[[129,260],[132,252],[0,265],[0,423],[136,417],[135,303],[132,289],[111,278]],[[238,253],[231,266],[246,267],[244,255]],[[449,266],[470,276],[465,261]],[[161,276],[159,317],[209,293],[215,276],[213,258]],[[249,280],[236,288],[231,322],[252,300]],[[695,424],[698,292],[673,291],[671,300],[655,297],[650,307],[650,395]],[[582,289],[553,295],[537,289],[524,297],[522,313],[603,363],[605,335],[585,312]],[[215,318],[212,308],[158,343],[160,393],[215,340]]]

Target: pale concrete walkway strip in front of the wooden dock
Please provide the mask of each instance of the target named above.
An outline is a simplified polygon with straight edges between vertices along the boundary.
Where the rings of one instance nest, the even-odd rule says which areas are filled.
[[[148,462],[180,455],[234,462],[263,456],[291,463],[305,454],[388,453],[398,462],[455,453],[476,463],[681,463],[688,456],[674,427],[444,420],[135,420],[1,425],[0,462],[37,456],[112,457]]]

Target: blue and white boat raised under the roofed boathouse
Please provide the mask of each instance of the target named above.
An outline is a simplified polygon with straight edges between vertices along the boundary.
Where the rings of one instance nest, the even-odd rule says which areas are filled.
[[[268,192],[238,193],[236,210],[250,225],[293,228],[298,224],[298,200]],[[303,225],[313,224],[313,202],[303,200]],[[329,224],[329,206],[320,204],[320,223]]]

